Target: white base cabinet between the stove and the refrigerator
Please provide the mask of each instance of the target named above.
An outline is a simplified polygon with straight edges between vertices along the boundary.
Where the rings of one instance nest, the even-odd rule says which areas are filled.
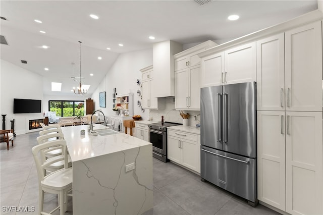
[[[198,135],[168,129],[167,158],[199,173]]]

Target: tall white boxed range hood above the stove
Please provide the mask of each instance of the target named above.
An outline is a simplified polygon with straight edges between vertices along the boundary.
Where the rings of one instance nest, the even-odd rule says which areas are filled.
[[[174,55],[182,49],[182,44],[172,40],[153,44],[153,76],[156,80],[153,87],[157,98],[175,96]]]

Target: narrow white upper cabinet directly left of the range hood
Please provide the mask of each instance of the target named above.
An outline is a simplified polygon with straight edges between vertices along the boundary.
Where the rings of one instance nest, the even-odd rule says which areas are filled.
[[[142,73],[141,80],[141,101],[144,109],[158,109],[158,100],[154,94],[154,78],[152,65],[140,70]]]

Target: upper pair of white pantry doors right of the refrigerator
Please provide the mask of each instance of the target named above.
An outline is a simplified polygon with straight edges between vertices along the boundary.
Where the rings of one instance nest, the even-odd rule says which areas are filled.
[[[322,111],[321,52],[320,22],[257,41],[257,110]]]

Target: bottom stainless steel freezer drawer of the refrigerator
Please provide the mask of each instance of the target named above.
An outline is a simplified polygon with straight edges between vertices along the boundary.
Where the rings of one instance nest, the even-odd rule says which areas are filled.
[[[201,146],[201,178],[257,202],[256,159]]]

